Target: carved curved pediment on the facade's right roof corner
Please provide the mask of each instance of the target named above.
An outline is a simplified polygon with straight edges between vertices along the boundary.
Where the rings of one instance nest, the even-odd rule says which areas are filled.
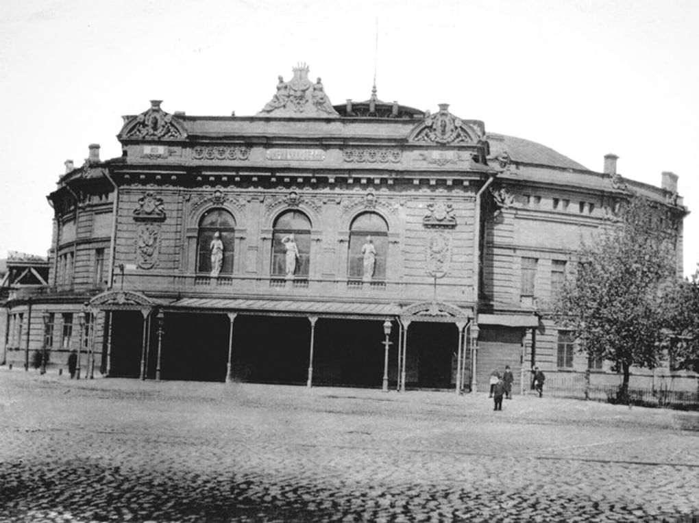
[[[455,117],[448,103],[440,103],[439,111],[426,117],[408,136],[408,142],[436,145],[478,144],[484,129]]]

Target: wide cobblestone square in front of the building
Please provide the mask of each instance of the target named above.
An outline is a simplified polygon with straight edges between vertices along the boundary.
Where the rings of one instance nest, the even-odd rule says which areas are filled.
[[[0,370],[0,522],[691,521],[699,415]]]

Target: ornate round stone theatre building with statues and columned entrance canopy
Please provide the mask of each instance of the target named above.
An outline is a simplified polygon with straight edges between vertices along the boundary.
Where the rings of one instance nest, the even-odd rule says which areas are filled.
[[[332,105],[293,72],[257,115],[152,101],[124,117],[120,158],[66,161],[48,286],[6,302],[6,362],[76,350],[83,376],[467,390],[509,364],[519,390],[533,364],[586,368],[547,302],[620,200],[666,207],[681,272],[672,173],[589,170],[447,104]]]

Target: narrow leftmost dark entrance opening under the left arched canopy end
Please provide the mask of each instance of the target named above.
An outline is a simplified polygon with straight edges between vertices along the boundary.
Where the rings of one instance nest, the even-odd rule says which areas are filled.
[[[138,378],[143,349],[143,314],[140,311],[115,311],[112,313],[112,321],[109,375]]]

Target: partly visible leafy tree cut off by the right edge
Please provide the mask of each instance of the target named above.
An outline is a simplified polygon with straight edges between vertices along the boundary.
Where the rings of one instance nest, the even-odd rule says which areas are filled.
[[[665,347],[672,368],[699,372],[699,268],[667,293],[665,318]]]

